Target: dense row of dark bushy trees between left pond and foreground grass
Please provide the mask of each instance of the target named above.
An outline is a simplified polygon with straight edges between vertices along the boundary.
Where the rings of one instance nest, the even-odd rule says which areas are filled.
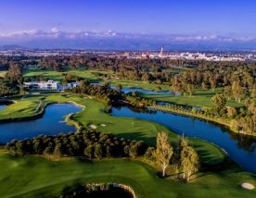
[[[103,157],[136,157],[144,155],[147,144],[117,138],[111,133],[83,130],[79,133],[60,133],[58,136],[40,135],[32,140],[6,143],[11,155],[84,156],[90,159]]]

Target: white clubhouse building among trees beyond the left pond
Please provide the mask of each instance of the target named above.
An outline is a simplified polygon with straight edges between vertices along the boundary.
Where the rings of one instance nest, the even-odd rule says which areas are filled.
[[[77,87],[78,82],[70,82],[68,84],[62,85],[59,81],[48,80],[48,81],[29,81],[24,82],[24,87],[32,90],[67,90]]]

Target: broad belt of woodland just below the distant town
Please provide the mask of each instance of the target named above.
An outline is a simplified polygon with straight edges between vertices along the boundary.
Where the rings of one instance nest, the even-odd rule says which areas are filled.
[[[255,61],[127,59],[88,54],[85,56],[42,57],[36,65],[43,69],[53,68],[55,70],[61,70],[63,67],[98,68],[110,71],[124,80],[169,83],[174,92],[193,93],[194,89],[214,90],[217,87],[226,87],[227,94],[237,101],[252,94],[255,97],[256,94]],[[172,68],[178,68],[180,71],[177,74],[170,71]],[[107,74],[96,75],[108,78]],[[228,91],[230,87],[233,89],[232,93]]]

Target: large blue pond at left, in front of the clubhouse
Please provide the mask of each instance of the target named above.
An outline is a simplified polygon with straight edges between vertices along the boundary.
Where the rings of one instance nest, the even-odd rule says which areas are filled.
[[[75,131],[74,126],[67,125],[64,120],[70,113],[81,111],[73,104],[54,104],[45,108],[43,118],[30,121],[0,123],[0,142],[33,138],[40,134],[58,135],[60,132]]]

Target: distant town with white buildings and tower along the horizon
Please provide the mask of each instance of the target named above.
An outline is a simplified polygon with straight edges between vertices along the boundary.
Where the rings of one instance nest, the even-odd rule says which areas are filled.
[[[164,50],[161,46],[159,51],[93,51],[93,50],[70,50],[70,49],[22,49],[2,48],[0,56],[78,56],[96,54],[113,58],[130,59],[184,59],[184,60],[207,60],[207,61],[255,61],[256,52],[174,52]]]

